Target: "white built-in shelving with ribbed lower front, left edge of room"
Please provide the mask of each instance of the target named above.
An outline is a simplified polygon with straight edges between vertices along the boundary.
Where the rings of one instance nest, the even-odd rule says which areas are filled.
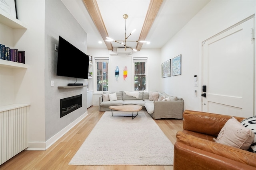
[[[23,35],[18,35],[17,32],[24,33],[25,31],[20,31],[20,29],[27,29],[26,24],[0,11],[0,27],[0,44],[17,49],[15,47],[17,41],[22,41],[20,38]],[[16,38],[16,35],[19,37]],[[28,147],[27,119],[30,101],[29,96],[24,96],[29,95],[27,90],[29,79],[26,77],[28,68],[28,64],[0,59],[0,81],[2,82],[0,89],[0,114],[2,125],[7,123],[7,126],[2,127],[0,133],[1,138],[6,139],[1,146],[0,164],[3,164]],[[12,127],[18,129],[13,129]],[[10,144],[16,147],[12,148]]]

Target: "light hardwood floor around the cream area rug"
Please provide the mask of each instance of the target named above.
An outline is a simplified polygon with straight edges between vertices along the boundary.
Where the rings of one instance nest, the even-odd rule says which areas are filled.
[[[74,166],[68,165],[104,111],[98,106],[88,108],[88,115],[45,151],[24,150],[0,165],[0,170],[172,170],[173,166]],[[182,131],[183,121],[178,119],[158,119],[165,135],[174,144],[177,131]]]

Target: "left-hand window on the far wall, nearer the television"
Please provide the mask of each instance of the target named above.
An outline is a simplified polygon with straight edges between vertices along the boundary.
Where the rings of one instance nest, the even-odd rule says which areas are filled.
[[[97,92],[108,91],[108,58],[95,58]]]

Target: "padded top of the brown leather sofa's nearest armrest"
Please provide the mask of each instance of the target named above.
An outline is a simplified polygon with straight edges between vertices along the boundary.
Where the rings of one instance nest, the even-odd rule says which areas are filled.
[[[182,142],[190,147],[205,150],[250,166],[256,167],[256,154],[246,150],[215,143],[205,139],[187,135],[181,131],[176,134],[177,142]]]

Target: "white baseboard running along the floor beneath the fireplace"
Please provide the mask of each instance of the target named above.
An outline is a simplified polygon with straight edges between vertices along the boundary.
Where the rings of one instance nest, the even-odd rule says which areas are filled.
[[[29,142],[28,148],[25,150],[46,150],[50,146],[52,146],[58,139],[60,139],[63,135],[65,135],[72,127],[74,127],[77,123],[79,123],[84,117],[88,115],[88,112],[86,111],[84,114],[82,114],[80,117],[78,117],[75,121],[70,123],[68,126],[66,126],[64,129],[56,133],[53,137],[51,137],[46,142]]]

